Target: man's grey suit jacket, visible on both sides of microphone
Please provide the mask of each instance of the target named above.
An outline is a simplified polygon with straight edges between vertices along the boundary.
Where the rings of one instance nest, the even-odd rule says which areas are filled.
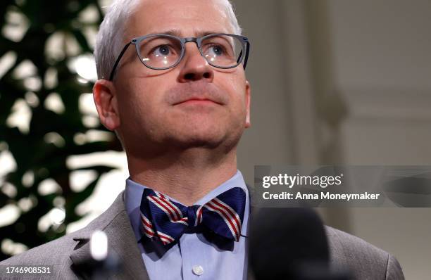
[[[31,274],[3,274],[0,279],[78,279],[88,278],[86,272],[77,272],[76,265],[89,260],[89,237],[95,230],[108,236],[109,250],[123,260],[122,274],[111,279],[149,279],[125,210],[123,193],[113,204],[96,217],[87,227],[42,246],[0,262],[4,266],[51,266],[51,277]],[[392,255],[369,243],[332,227],[326,227],[333,269],[349,267],[355,279],[404,279],[399,263]]]

